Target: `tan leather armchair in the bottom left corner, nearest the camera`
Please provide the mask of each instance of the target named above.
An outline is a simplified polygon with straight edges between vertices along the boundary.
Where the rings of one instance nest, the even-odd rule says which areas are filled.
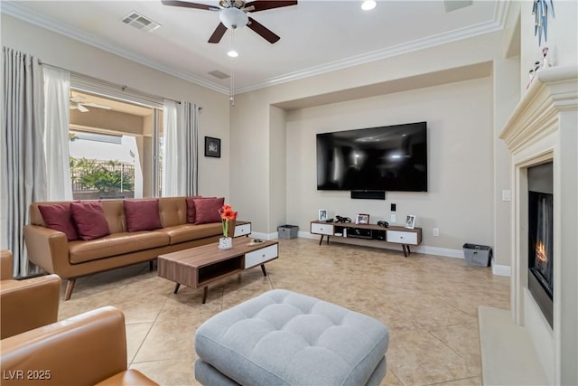
[[[127,369],[125,316],[106,306],[2,341],[3,386],[157,385]]]

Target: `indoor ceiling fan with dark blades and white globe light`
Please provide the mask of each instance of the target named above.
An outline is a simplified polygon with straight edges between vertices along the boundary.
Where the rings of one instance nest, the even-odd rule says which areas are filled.
[[[246,3],[244,0],[220,0],[219,6],[190,3],[178,0],[162,0],[163,5],[182,6],[185,8],[203,9],[206,11],[219,12],[220,23],[215,31],[210,35],[209,42],[220,42],[228,29],[236,30],[247,25],[267,42],[274,43],[281,39],[265,25],[258,23],[249,16],[248,12],[266,11],[267,9],[280,8],[283,6],[297,5],[297,1],[282,0],[255,0]]]

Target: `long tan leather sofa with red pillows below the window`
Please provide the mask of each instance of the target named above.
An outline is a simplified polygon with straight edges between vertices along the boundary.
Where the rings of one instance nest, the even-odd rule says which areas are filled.
[[[63,202],[35,202],[31,223],[24,226],[28,259],[49,273],[68,279],[65,300],[69,300],[76,279],[108,269],[152,261],[158,255],[188,249],[219,240],[220,222],[187,222],[186,197],[159,198],[162,229],[127,231],[124,200],[103,200],[102,208],[110,234],[96,240],[67,240],[61,231],[47,228],[39,205]]]

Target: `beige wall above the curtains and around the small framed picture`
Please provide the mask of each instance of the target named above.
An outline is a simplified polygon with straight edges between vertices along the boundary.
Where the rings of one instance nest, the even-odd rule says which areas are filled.
[[[100,80],[149,94],[190,100],[202,107],[199,117],[199,193],[229,196],[228,97],[161,71],[128,61],[58,33],[2,14],[2,44],[36,58]],[[204,137],[219,137],[221,158],[204,157]]]

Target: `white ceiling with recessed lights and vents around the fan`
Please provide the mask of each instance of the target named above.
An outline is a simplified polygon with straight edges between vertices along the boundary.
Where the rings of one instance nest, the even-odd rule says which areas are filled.
[[[473,0],[451,12],[441,0],[384,0],[372,11],[360,5],[360,0],[300,0],[250,13],[281,40],[271,44],[247,27],[240,29],[235,33],[238,58],[226,54],[230,31],[219,44],[207,42],[219,24],[218,13],[160,0],[2,1],[2,13],[226,93],[230,80],[219,80],[210,71],[230,74],[234,69],[236,92],[258,89],[497,31],[507,11],[504,0]],[[161,28],[145,33],[122,23],[132,11]]]

